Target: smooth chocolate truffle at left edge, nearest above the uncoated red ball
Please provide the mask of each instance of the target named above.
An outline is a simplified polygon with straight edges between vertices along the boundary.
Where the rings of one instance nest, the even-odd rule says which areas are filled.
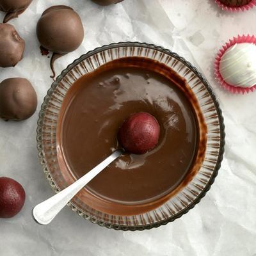
[[[4,120],[25,120],[36,106],[36,92],[27,79],[9,78],[0,84],[0,117]]]

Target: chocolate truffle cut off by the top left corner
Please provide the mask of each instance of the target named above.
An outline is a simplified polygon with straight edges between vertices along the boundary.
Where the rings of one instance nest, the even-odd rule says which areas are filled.
[[[0,10],[7,12],[4,17],[4,23],[10,19],[17,18],[28,8],[32,0],[0,0]]]

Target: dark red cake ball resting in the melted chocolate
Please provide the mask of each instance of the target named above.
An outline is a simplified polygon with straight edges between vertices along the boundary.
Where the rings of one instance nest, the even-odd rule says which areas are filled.
[[[120,145],[132,154],[145,154],[156,147],[160,134],[159,124],[154,116],[134,113],[121,125],[118,132]]]

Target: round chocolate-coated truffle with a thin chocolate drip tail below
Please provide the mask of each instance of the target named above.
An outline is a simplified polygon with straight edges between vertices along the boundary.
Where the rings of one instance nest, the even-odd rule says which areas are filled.
[[[81,45],[84,28],[79,15],[72,8],[57,5],[44,11],[38,20],[36,35],[42,47],[54,52],[51,68],[55,76],[54,61]]]

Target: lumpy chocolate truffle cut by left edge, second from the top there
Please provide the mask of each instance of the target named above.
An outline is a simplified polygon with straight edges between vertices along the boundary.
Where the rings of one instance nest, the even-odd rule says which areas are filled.
[[[23,57],[25,42],[10,24],[0,24],[0,67],[14,67]]]

